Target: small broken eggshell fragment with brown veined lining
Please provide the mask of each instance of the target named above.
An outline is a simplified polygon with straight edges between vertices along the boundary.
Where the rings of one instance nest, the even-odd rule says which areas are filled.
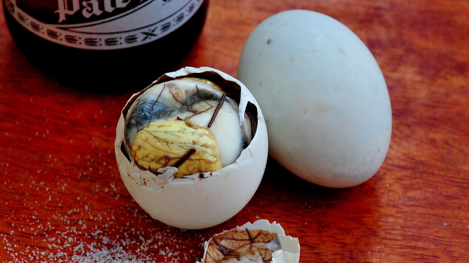
[[[300,243],[285,235],[280,224],[266,219],[215,234],[204,243],[204,258],[197,263],[298,263]]]

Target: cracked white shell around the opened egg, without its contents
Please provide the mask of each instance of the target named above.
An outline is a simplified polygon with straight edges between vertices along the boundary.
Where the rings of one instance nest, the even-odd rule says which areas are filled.
[[[243,114],[248,102],[257,107],[256,134],[234,164],[203,173],[204,178],[199,178],[199,174],[189,178],[166,176],[158,182],[159,176],[138,168],[121,151],[121,143],[125,141],[124,114],[127,113],[129,103],[140,93],[134,94],[123,109],[114,146],[122,181],[131,196],[151,217],[170,226],[200,229],[226,221],[249,202],[264,174],[268,142],[264,117],[256,100],[240,81],[226,73],[209,67],[185,67],[166,73],[156,82],[189,74],[215,74],[231,85],[238,86],[241,89],[240,122],[244,121]]]

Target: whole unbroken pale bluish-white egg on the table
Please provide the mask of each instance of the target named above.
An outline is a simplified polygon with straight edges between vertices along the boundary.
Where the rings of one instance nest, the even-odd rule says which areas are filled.
[[[264,110],[269,153],[295,175],[350,187],[382,165],[392,129],[386,82],[337,20],[308,10],[267,18],[242,50],[238,79]]]

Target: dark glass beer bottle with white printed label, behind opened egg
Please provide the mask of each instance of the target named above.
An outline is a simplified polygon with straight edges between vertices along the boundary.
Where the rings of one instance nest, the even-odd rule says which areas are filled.
[[[2,1],[8,29],[34,65],[65,85],[108,91],[147,86],[179,67],[208,7],[208,0]]]

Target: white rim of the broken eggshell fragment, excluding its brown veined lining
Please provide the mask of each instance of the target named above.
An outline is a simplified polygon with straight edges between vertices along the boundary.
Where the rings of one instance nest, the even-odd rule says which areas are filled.
[[[285,234],[285,230],[283,229],[280,224],[276,223],[273,221],[272,223],[269,222],[267,219],[259,219],[254,221],[254,223],[247,222],[246,224],[242,226],[236,226],[236,229],[239,230],[265,230],[270,233],[276,233],[278,237],[278,241],[280,243],[281,249],[274,250],[272,253],[272,260],[270,261],[271,263],[298,263],[300,261],[300,242],[298,241],[298,238],[294,238],[291,236],[287,236]],[[222,233],[232,231],[231,230],[225,230]],[[207,256],[208,252],[208,245],[209,241],[205,241],[204,243],[204,258],[202,259],[202,262]],[[272,249],[272,248],[269,248]],[[233,258],[229,262],[245,262],[245,261],[239,261]],[[259,259],[259,262],[260,259]],[[197,263],[200,263],[197,261]]]

